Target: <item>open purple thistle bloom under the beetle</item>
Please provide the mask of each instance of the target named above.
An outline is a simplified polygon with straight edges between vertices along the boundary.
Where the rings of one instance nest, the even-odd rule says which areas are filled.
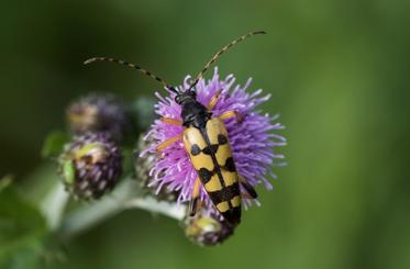
[[[190,77],[187,77],[180,90],[189,87]],[[262,114],[255,111],[255,108],[267,101],[270,96],[261,96],[262,90],[247,93],[252,79],[248,79],[245,86],[234,86],[235,78],[233,75],[220,80],[218,69],[215,68],[213,78],[208,82],[201,79],[197,87],[197,99],[207,105],[211,98],[222,90],[218,103],[212,109],[212,116],[219,116],[225,111],[235,110],[244,116],[241,123],[236,120],[225,121],[229,142],[233,152],[236,170],[252,186],[263,183],[266,189],[273,186],[267,180],[269,175],[275,178],[269,167],[275,159],[284,158],[282,155],[275,154],[277,146],[285,145],[286,141],[274,131],[281,130],[280,123],[274,123],[277,116],[269,117],[268,114]],[[163,97],[156,93],[159,102],[156,104],[156,113],[159,116],[180,119],[181,108],[175,102],[175,93],[169,92],[169,97]],[[156,120],[152,125],[146,137],[152,137],[155,143],[143,153],[156,154],[156,147],[170,137],[177,136],[184,132],[182,126],[167,124]],[[189,156],[186,153],[181,141],[174,143],[163,150],[163,157],[157,160],[151,170],[151,186],[157,187],[157,192],[163,188],[177,190],[179,192],[178,202],[187,202],[191,199],[191,193],[197,178]],[[241,192],[246,191],[242,189]],[[212,203],[203,188],[200,190],[200,200],[203,201],[208,209],[213,209]],[[244,199],[245,206],[251,205],[252,201]],[[256,203],[258,203],[255,200]],[[218,214],[218,213],[217,213]]]

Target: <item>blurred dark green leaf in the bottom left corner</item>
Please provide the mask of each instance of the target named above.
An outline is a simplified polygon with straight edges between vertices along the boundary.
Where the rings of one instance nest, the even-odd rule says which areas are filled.
[[[13,186],[0,191],[0,268],[33,268],[42,255],[46,232],[38,210]]]

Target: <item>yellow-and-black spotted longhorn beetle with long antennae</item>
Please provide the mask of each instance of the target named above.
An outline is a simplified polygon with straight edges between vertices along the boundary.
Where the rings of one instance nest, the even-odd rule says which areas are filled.
[[[184,132],[160,143],[156,149],[157,152],[162,152],[171,144],[182,139],[184,147],[197,171],[197,179],[189,202],[190,216],[193,216],[201,206],[199,203],[201,186],[207,191],[218,212],[221,213],[223,218],[231,226],[236,226],[241,222],[242,198],[255,199],[257,197],[254,188],[236,171],[228,138],[228,131],[224,124],[224,121],[231,117],[236,117],[240,124],[243,115],[236,111],[225,111],[218,117],[212,116],[212,109],[218,103],[222,90],[217,92],[206,105],[197,100],[197,94],[193,90],[199,79],[202,78],[203,74],[223,53],[236,43],[256,34],[265,34],[265,32],[250,32],[222,47],[222,49],[214,54],[206,64],[188,89],[184,91],[177,90],[151,71],[125,60],[110,57],[93,57],[84,63],[88,65],[95,61],[112,61],[128,66],[155,79],[176,94],[175,101],[181,107],[181,119],[162,117],[160,120],[167,124],[184,126]],[[246,193],[241,193],[240,184],[244,188]]]

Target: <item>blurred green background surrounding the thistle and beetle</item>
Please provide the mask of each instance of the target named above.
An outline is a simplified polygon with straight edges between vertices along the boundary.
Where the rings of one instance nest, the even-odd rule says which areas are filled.
[[[273,93],[263,109],[287,126],[288,166],[222,246],[197,247],[175,221],[129,211],[48,268],[410,268],[409,14],[399,0],[3,2],[0,177],[30,178],[74,98],[158,88],[119,66],[82,66],[90,56],[180,83],[232,38],[265,30],[218,66]]]

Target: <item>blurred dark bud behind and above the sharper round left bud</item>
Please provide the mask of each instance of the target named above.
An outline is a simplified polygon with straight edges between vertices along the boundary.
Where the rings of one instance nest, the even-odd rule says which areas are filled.
[[[68,107],[66,114],[76,135],[106,132],[114,139],[121,139],[130,123],[125,105],[109,93],[90,93],[80,98]]]

